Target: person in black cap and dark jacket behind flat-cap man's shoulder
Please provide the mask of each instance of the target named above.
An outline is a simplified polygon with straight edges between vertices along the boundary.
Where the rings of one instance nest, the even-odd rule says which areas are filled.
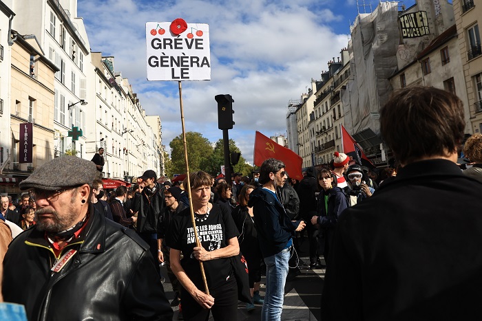
[[[143,176],[139,178],[142,179],[144,188],[140,193],[137,232],[139,236],[149,244],[149,250],[152,256],[156,258],[158,256],[157,223],[160,212],[165,208],[165,186],[156,181],[157,175],[154,170],[146,170]],[[160,268],[157,264],[156,269],[160,273]]]

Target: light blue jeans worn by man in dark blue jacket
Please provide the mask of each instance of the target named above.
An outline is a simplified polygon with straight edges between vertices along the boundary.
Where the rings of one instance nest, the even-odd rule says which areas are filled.
[[[284,285],[288,275],[289,248],[264,258],[266,263],[266,294],[261,309],[262,321],[281,320],[284,300]]]

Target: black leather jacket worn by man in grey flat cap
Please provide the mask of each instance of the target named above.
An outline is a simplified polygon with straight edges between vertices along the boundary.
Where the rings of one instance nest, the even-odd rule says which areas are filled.
[[[134,231],[90,206],[87,225],[63,253],[77,250],[59,272],[58,258],[36,225],[20,234],[3,261],[3,298],[25,305],[36,320],[172,320],[148,246]]]

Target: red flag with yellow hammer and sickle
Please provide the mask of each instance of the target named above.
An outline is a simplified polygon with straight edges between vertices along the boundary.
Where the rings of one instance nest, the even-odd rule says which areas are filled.
[[[256,131],[254,139],[254,164],[261,166],[268,158],[279,159],[284,163],[284,169],[289,177],[297,180],[303,179],[302,165],[303,159],[291,149],[281,146],[270,140],[268,137]]]

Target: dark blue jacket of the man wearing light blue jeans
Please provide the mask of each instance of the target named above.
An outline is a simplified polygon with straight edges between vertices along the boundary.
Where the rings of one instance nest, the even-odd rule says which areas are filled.
[[[264,258],[280,253],[291,239],[300,221],[293,223],[272,192],[256,188],[249,195],[261,253]]]

